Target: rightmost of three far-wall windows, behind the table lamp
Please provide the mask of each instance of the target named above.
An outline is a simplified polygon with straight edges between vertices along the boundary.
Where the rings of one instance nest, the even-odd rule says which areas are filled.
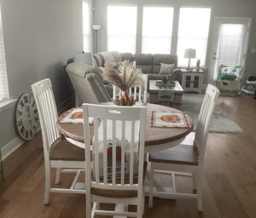
[[[185,49],[196,49],[196,58],[205,66],[207,40],[211,9],[181,8],[179,14],[177,55],[178,66],[187,66],[188,59],[183,58]],[[191,60],[195,66],[196,60]]]

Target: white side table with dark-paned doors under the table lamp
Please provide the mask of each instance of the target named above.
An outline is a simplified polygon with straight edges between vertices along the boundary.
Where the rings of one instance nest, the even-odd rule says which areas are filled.
[[[203,81],[203,70],[196,69],[180,69],[183,73],[182,87],[184,91],[194,91],[201,93],[201,86]]]

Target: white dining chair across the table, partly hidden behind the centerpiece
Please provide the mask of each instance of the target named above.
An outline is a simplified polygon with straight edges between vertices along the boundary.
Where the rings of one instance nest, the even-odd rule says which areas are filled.
[[[134,100],[138,102],[147,103],[148,100],[148,74],[143,74],[144,87],[134,87],[129,89],[129,95],[134,96]],[[122,94],[122,90],[117,86],[113,85],[113,100],[115,100],[116,96],[120,96]]]

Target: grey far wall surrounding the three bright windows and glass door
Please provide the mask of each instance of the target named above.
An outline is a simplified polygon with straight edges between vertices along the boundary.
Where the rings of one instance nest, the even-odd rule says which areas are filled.
[[[175,9],[173,41],[177,42],[177,20],[178,9],[181,6],[205,6],[212,9],[211,24],[209,31],[209,40],[207,48],[206,67],[209,67],[210,49],[212,46],[212,26],[214,17],[250,17],[253,19],[250,41],[248,44],[247,64],[245,78],[250,75],[256,75],[256,54],[251,54],[251,49],[256,48],[256,1],[254,0],[95,0],[94,1],[94,23],[102,26],[98,32],[99,51],[107,50],[107,6],[108,4],[137,4],[137,53],[141,51],[142,42],[142,20],[143,5],[169,5]],[[154,14],[153,14],[154,15]],[[172,42],[173,42],[172,41]],[[172,54],[176,54],[176,43],[172,44]],[[204,77],[204,83],[207,83],[207,73]]]

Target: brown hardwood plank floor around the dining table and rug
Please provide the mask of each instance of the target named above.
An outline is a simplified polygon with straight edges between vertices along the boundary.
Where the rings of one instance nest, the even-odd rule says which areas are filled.
[[[195,199],[184,198],[154,198],[154,207],[148,209],[146,198],[143,217],[256,217],[256,100],[252,95],[219,97],[218,104],[247,135],[209,135],[203,178],[204,211],[197,211]],[[40,134],[6,158],[3,169],[1,218],[85,217],[82,195],[52,193],[50,204],[43,204],[44,154]],[[61,186],[70,182],[67,175],[61,178]],[[178,178],[177,184],[180,188],[191,187],[189,178]]]

